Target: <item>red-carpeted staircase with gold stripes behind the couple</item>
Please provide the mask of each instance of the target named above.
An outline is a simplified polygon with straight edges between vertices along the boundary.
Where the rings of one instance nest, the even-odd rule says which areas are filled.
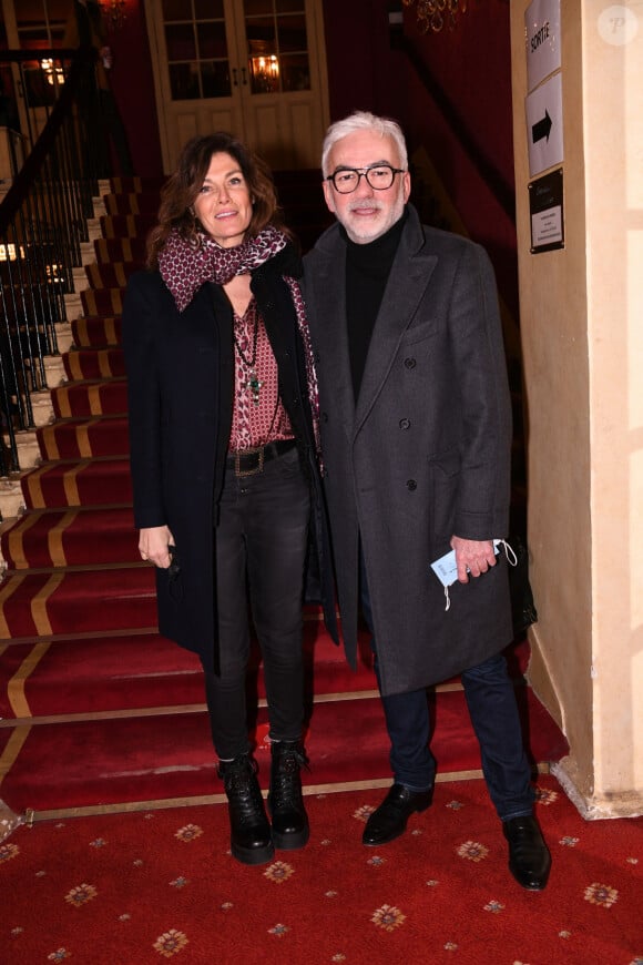
[[[328,214],[318,172],[277,175],[304,250]],[[41,463],[24,474],[23,515],[6,524],[0,583],[0,799],[32,819],[96,810],[220,802],[201,667],[156,631],[154,573],[137,553],[120,347],[123,288],[142,265],[160,183],[115,179],[104,197],[94,261],[84,270],[64,384],[40,426]],[[370,651],[353,673],[316,608],[305,612],[309,695],[308,792],[386,786],[388,742]],[[509,652],[534,763],[567,751],[524,685],[524,642]],[[255,657],[253,722],[263,784],[268,768],[263,679]],[[480,776],[457,680],[437,688],[439,780]]]

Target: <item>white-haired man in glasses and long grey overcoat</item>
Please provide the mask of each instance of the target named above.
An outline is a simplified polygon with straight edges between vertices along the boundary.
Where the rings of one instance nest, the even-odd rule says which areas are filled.
[[[511,416],[493,272],[481,247],[422,226],[400,128],[333,124],[322,167],[338,224],[306,257],[325,490],[339,609],[355,664],[359,605],[391,743],[394,784],[364,844],[431,803],[426,687],[461,673],[482,768],[521,885],[551,859],[501,653],[512,638],[507,562]],[[430,562],[452,548],[458,581]]]

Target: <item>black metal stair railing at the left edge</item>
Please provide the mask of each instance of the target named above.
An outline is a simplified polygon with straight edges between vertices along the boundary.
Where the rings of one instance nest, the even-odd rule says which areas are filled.
[[[0,53],[9,121],[0,125],[0,476],[20,468],[17,433],[34,425],[31,393],[47,386],[45,358],[58,353],[55,326],[73,292],[92,199],[109,173],[94,51],[38,58]]]

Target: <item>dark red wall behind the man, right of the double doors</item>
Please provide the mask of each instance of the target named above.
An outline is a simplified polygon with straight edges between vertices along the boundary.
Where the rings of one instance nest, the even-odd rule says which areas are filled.
[[[502,295],[516,314],[512,219],[462,150],[406,55],[391,49],[388,10],[396,6],[401,7],[324,0],[331,120],[354,110],[387,114],[402,125],[409,152],[419,145],[427,149],[469,233],[489,251]],[[512,186],[509,4],[472,0],[453,31],[437,34],[420,33],[415,7],[405,8],[404,32],[421,51],[477,146]]]

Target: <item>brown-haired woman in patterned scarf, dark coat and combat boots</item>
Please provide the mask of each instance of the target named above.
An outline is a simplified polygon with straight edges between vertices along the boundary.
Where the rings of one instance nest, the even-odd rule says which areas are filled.
[[[203,663],[232,853],[262,864],[309,833],[299,769],[310,510],[314,562],[328,568],[300,263],[267,167],[229,134],[185,145],[147,268],[131,277],[123,309],[139,549],[157,567],[161,632]],[[268,703],[272,829],[246,721],[248,596]],[[326,617],[336,637],[331,606]]]

